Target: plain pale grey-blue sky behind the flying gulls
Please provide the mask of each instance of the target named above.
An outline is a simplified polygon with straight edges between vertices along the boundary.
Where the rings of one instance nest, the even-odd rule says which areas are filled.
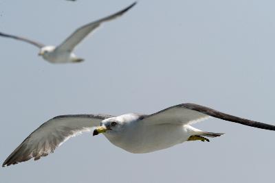
[[[1,0],[0,31],[58,45],[131,0]],[[275,1],[142,1],[50,64],[36,47],[0,38],[0,160],[59,114],[150,114],[192,102],[275,125]],[[39,161],[0,169],[1,182],[272,182],[275,132],[218,119],[225,132],[130,154],[104,136],[71,138]]]

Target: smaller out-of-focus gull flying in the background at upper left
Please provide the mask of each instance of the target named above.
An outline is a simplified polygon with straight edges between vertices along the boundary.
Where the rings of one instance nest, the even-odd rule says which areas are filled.
[[[99,27],[101,23],[104,23],[105,21],[111,21],[118,16],[122,16],[122,14],[130,10],[136,3],[137,2],[132,3],[128,7],[120,10],[119,12],[116,12],[115,14],[111,14],[110,16],[104,17],[103,19],[99,19],[98,21],[94,21],[79,27],[73,34],[71,34],[65,41],[63,41],[61,45],[58,45],[57,47],[43,45],[40,42],[36,42],[28,38],[13,36],[3,32],[0,32],[0,36],[22,40],[36,47],[39,47],[39,56],[42,56],[45,60],[51,63],[82,62],[84,60],[83,58],[78,58],[74,53],[72,53],[74,47],[76,47],[76,45],[78,45],[78,43],[81,42],[90,32],[93,32],[97,27]]]

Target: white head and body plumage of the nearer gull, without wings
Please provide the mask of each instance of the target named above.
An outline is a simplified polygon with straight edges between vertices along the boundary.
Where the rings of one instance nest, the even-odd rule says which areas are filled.
[[[113,145],[131,153],[142,154],[183,143],[200,131],[181,124],[164,123],[158,127],[143,125],[139,119],[140,115],[133,113],[105,119],[102,125],[109,126],[110,122],[116,121],[121,127],[118,130],[107,130],[103,134]]]

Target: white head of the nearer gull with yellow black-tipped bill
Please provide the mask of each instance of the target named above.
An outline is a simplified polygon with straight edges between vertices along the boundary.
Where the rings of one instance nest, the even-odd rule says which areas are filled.
[[[96,127],[93,136],[107,133],[118,134],[126,130],[126,128],[139,119],[137,114],[123,114],[118,117],[112,117],[101,121],[100,126]]]

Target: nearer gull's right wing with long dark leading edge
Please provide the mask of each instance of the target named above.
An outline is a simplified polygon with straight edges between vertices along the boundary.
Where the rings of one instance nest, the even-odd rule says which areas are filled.
[[[234,117],[230,114],[225,114],[223,112],[219,112],[212,108],[199,106],[194,103],[181,103],[177,106],[166,108],[164,110],[156,112],[155,114],[145,116],[144,119],[142,119],[142,121],[148,124],[150,123],[190,124],[192,122],[208,119],[208,117],[215,117],[218,119],[223,119],[225,121],[240,123],[242,125],[248,125],[251,127],[258,127],[265,130],[275,130],[274,125],[260,123],[257,121],[243,119],[240,117]]]

